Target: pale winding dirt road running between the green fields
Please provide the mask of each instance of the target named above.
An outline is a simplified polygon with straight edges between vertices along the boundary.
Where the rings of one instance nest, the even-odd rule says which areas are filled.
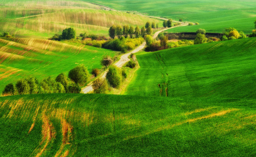
[[[153,38],[157,38],[157,36],[159,35],[160,32],[162,31],[165,31],[165,30],[168,30],[168,29],[172,29],[172,28],[176,28],[176,27],[182,27],[182,26],[187,26],[188,24],[185,23],[185,24],[181,24],[179,26],[175,26],[175,27],[171,27],[171,28],[166,28],[166,29],[162,29],[162,30],[159,30],[157,32],[155,32],[155,34],[153,35]],[[122,66],[125,65],[125,63],[129,62],[130,59],[128,58],[129,55],[131,53],[137,53],[139,52],[140,50],[144,49],[144,47],[146,46],[146,42],[143,42],[140,46],[138,46],[136,49],[126,53],[126,54],[123,54],[120,58],[120,60],[118,62],[115,63],[115,65],[118,67],[118,68],[121,68]],[[100,78],[106,78],[106,75],[107,75],[107,72],[108,71],[105,71],[104,73],[102,73],[99,77]],[[86,94],[86,93],[90,93],[90,92],[93,92],[94,89],[93,89],[93,82],[90,82],[89,84],[87,84],[86,87],[82,88],[81,89],[81,92]]]

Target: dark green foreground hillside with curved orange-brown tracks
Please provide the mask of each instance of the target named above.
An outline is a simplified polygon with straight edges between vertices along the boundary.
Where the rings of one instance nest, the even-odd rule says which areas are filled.
[[[254,156],[255,99],[0,97],[1,156]]]

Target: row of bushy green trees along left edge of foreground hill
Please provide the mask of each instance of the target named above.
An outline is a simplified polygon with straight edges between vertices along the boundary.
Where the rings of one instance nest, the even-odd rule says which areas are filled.
[[[22,78],[5,86],[3,95],[43,94],[43,93],[80,93],[80,86],[88,82],[90,74],[84,65],[70,70],[68,76],[59,74],[55,79],[47,77],[41,82],[36,77]]]

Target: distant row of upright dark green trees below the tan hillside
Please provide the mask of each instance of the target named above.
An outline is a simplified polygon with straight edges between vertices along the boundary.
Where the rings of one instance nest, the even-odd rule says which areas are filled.
[[[109,36],[114,39],[116,36],[120,39],[122,36],[124,36],[125,38],[127,38],[128,36],[130,36],[130,38],[133,37],[133,35],[136,36],[136,38],[138,38],[140,35],[142,37],[144,37],[145,35],[151,35],[152,33],[152,26],[154,28],[156,28],[155,23],[152,23],[152,25],[147,22],[146,26],[141,27],[141,29],[136,26],[135,28],[133,26],[128,26],[125,25],[123,27],[121,27],[120,25],[112,25],[108,32],[109,32]],[[158,27],[158,25],[157,25]]]

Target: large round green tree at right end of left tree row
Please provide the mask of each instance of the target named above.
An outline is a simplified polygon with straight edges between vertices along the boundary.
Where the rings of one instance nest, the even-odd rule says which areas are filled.
[[[69,71],[68,77],[76,84],[84,85],[89,80],[90,74],[85,65],[78,65]]]

